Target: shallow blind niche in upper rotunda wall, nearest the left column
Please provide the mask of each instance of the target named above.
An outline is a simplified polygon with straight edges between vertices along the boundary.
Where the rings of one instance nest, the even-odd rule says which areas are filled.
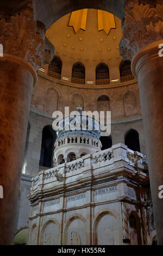
[[[53,114],[58,109],[58,92],[54,88],[48,88],[46,92],[46,109],[49,114]]]

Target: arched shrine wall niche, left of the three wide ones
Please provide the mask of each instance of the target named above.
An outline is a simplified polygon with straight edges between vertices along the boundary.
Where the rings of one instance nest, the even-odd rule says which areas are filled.
[[[54,221],[48,221],[41,231],[41,245],[58,245],[59,228]]]

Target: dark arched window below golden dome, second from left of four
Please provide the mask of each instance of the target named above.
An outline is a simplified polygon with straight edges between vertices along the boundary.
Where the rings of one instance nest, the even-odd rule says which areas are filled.
[[[85,66],[82,62],[76,62],[73,64],[71,82],[85,84]]]

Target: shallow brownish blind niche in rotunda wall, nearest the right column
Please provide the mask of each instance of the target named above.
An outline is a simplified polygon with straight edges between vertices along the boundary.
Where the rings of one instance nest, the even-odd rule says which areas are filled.
[[[124,94],[123,104],[125,117],[131,117],[138,113],[137,103],[137,95],[135,92],[129,91]]]

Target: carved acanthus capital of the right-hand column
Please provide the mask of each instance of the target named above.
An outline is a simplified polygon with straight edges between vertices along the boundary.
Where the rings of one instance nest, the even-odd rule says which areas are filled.
[[[142,48],[163,39],[163,1],[126,0],[122,32],[120,54],[124,60],[132,60]]]

